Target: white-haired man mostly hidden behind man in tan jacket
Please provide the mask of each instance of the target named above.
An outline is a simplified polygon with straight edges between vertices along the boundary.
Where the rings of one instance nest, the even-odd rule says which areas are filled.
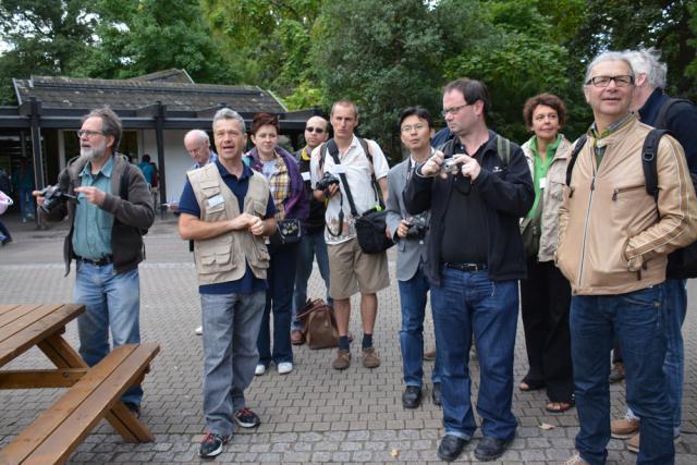
[[[636,73],[636,85],[629,110],[639,120],[660,130],[669,130],[685,150],[693,184],[697,185],[697,108],[687,100],[670,98],[664,93],[668,68],[660,62],[660,52],[652,48],[627,50],[624,56]],[[681,404],[683,402],[684,351],[681,328],[687,311],[686,278],[681,267],[682,250],[668,256],[665,308],[668,314],[668,350],[663,362],[668,396],[673,411],[673,436],[680,436]],[[694,274],[693,274],[694,276]],[[627,449],[639,450],[639,418],[629,408],[624,418],[612,421],[612,437],[629,439]]]

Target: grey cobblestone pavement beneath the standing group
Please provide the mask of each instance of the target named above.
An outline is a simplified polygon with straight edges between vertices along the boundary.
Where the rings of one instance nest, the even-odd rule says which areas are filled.
[[[3,217],[14,242],[0,248],[0,303],[71,302],[74,274],[63,278],[62,240],[66,225],[37,231],[33,224]],[[70,463],[83,464],[172,464],[199,463],[198,442],[205,432],[201,415],[201,340],[194,335],[199,325],[199,303],[192,256],[179,240],[173,219],[158,219],[146,236],[147,260],[140,266],[143,341],[157,341],[160,354],[155,358],[144,389],[143,420],[157,435],[149,444],[126,444],[102,421],[71,456]],[[392,252],[393,254],[393,252]],[[394,282],[394,256],[390,256]],[[685,321],[685,399],[683,435],[676,445],[677,463],[697,463],[697,379],[695,330],[696,286],[690,282],[690,308]],[[313,273],[309,295],[322,296],[323,283]],[[351,330],[360,334],[358,313],[352,316]],[[436,463],[441,430],[441,412],[426,401],[414,411],[401,405],[402,379],[398,331],[400,328],[396,285],[379,293],[376,347],[382,365],[374,370],[359,363],[359,344],[353,344],[354,363],[345,371],[331,369],[332,352],[295,348],[295,369],[279,376],[274,369],[256,377],[247,391],[247,405],[261,417],[253,431],[237,431],[225,452],[213,463]],[[76,327],[68,327],[69,341],[77,346]],[[433,346],[432,322],[426,327],[426,345]],[[11,364],[13,368],[50,367],[32,350]],[[432,363],[426,363],[430,376]],[[474,390],[478,389],[476,360],[470,363]],[[516,344],[516,384],[527,370],[523,326],[518,323]],[[430,388],[430,382],[428,383]],[[0,446],[17,435],[47,408],[63,390],[10,390],[0,392]],[[624,386],[612,386],[612,413],[624,413]],[[543,392],[513,396],[518,418],[517,437],[501,457],[505,464],[559,464],[574,449],[576,412],[548,414]],[[541,429],[540,425],[552,425]],[[460,458],[476,462],[475,435]],[[609,445],[609,463],[634,463],[636,455],[622,441]]]

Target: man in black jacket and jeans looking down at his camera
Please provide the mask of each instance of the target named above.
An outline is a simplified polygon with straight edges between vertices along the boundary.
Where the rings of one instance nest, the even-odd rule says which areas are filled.
[[[444,461],[455,460],[476,429],[467,369],[473,335],[484,433],[475,456],[496,460],[515,437],[513,351],[526,273],[518,220],[535,193],[523,150],[488,130],[489,105],[480,82],[445,86],[443,117],[456,137],[416,169],[404,191],[409,213],[431,209],[426,276],[442,363]]]

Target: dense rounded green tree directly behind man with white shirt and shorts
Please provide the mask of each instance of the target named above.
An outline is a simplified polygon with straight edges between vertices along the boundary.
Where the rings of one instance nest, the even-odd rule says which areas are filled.
[[[400,160],[396,118],[411,105],[438,106],[442,45],[419,0],[327,2],[316,24],[313,58],[323,103],[348,98],[360,131]]]

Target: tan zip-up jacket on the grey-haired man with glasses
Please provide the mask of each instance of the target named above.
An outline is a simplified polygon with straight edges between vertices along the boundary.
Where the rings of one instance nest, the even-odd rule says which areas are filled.
[[[622,294],[665,280],[667,255],[697,238],[697,205],[681,145],[659,144],[658,206],[646,192],[641,147],[650,126],[633,119],[588,140],[559,211],[557,262],[573,294]],[[607,146],[600,169],[596,145]],[[657,208],[658,207],[658,208]]]

